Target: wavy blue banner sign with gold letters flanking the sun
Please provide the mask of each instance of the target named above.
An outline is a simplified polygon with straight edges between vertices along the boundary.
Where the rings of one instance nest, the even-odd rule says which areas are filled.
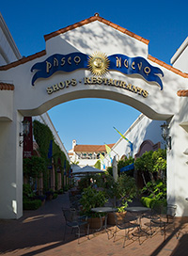
[[[39,78],[48,78],[55,72],[73,72],[79,69],[89,69],[88,59],[89,57],[83,53],[71,53],[68,55],[55,54],[49,56],[43,62],[36,63],[31,72],[37,70],[32,78],[32,86]],[[118,71],[124,74],[140,74],[148,82],[156,82],[161,89],[163,89],[163,83],[159,75],[164,76],[161,69],[153,67],[149,62],[141,56],[129,57],[124,55],[112,55],[107,57],[109,60],[108,71]]]

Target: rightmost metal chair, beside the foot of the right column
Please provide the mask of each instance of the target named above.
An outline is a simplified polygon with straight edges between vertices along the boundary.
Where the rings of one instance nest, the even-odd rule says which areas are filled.
[[[153,208],[150,218],[150,235],[152,235],[153,228],[160,228],[161,233],[164,235],[164,241],[166,237],[166,229],[169,225],[173,225],[175,230],[175,216],[177,205],[168,204],[167,206],[158,205]],[[177,236],[178,238],[178,236]]]

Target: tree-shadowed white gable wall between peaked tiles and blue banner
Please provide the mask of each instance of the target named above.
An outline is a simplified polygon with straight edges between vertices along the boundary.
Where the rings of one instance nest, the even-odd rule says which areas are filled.
[[[79,40],[78,40],[79,39]],[[54,46],[57,46],[55,49]],[[135,40],[117,29],[95,21],[77,27],[46,41],[47,55],[82,52],[91,55],[102,52],[106,55],[148,56],[148,45]]]

